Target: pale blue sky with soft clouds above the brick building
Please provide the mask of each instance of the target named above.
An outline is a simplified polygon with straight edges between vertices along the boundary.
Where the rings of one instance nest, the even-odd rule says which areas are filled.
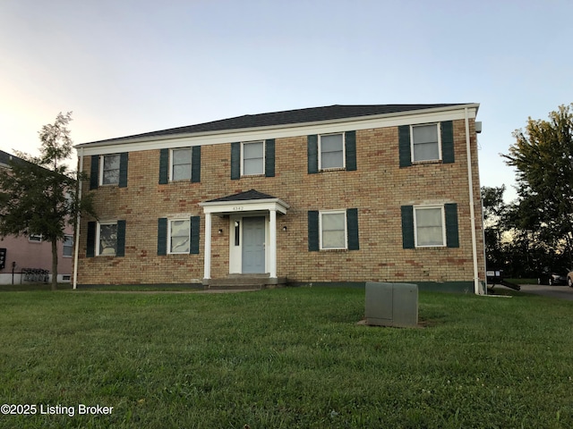
[[[573,102],[571,0],[0,0],[0,149],[321,105],[479,103],[483,186]]]

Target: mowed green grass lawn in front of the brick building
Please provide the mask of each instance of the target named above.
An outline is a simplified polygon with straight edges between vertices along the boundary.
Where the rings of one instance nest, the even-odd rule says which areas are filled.
[[[0,294],[0,427],[566,428],[573,302],[421,292],[375,328],[359,289]],[[81,415],[79,404],[114,407]]]

